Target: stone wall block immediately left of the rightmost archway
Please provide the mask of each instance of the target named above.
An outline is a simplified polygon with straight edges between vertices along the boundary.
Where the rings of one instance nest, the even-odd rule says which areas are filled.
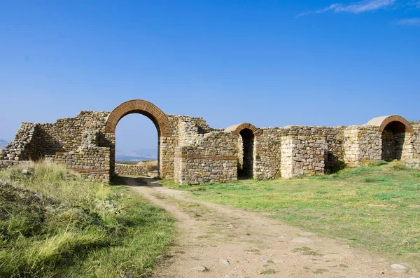
[[[352,125],[344,129],[344,162],[357,166],[382,159],[382,132],[372,125]]]

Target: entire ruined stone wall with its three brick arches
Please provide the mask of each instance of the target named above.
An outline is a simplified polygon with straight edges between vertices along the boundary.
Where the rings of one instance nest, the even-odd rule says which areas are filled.
[[[167,115],[151,102],[134,99],[111,112],[81,111],[52,124],[22,123],[15,140],[0,150],[0,168],[41,158],[109,181],[121,168],[115,163],[116,125],[130,113],[155,124],[159,174],[182,184],[235,181],[241,165],[253,179],[322,174],[344,163],[393,158],[420,167],[420,125],[396,115],[350,127],[242,123],[223,130],[209,127],[203,118]]]

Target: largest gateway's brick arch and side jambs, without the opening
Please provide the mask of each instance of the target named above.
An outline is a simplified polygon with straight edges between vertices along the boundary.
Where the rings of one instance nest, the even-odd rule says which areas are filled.
[[[159,174],[162,172],[162,151],[160,149],[160,141],[162,137],[172,137],[171,125],[165,113],[155,106],[151,102],[147,102],[143,99],[132,99],[127,102],[123,102],[118,105],[106,118],[106,139],[109,141],[110,147],[110,175],[115,174],[115,160],[116,160],[116,148],[115,148],[115,133],[118,122],[132,113],[139,113],[151,119],[155,124],[156,130],[158,130],[158,169]]]

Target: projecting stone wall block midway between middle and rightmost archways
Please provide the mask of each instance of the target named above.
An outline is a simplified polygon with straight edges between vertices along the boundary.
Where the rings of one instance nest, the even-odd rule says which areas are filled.
[[[328,145],[319,137],[288,135],[281,137],[281,176],[324,174]]]

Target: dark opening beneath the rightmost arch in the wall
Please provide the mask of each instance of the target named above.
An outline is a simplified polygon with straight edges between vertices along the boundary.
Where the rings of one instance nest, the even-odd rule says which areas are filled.
[[[405,141],[405,125],[398,121],[388,123],[382,132],[382,160],[400,160]]]

